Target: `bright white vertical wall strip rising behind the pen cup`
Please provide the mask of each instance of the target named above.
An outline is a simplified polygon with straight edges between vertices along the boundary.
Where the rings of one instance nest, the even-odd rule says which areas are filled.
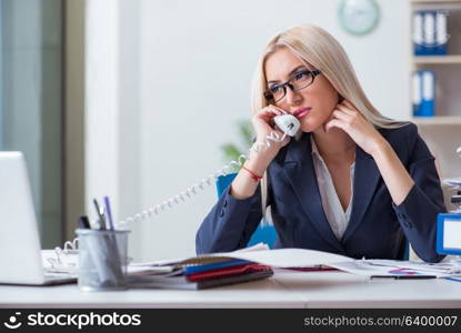
[[[109,195],[118,216],[121,201],[118,1],[89,0],[86,17],[86,206],[94,219],[92,199]]]

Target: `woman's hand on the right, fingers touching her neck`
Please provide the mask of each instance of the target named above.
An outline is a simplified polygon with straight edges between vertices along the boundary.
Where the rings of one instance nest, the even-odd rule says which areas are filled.
[[[373,124],[347,100],[337,105],[331,119],[324,125],[325,132],[332,128],[343,130],[364,152],[371,155],[387,144],[385,139]]]

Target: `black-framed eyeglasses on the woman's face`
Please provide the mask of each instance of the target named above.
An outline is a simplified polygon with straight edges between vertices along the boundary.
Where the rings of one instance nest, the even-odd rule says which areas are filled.
[[[313,80],[319,75],[321,71],[314,70],[301,70],[294,73],[290,80],[281,84],[273,84],[264,92],[264,98],[268,102],[277,103],[287,94],[287,87],[291,91],[300,91],[313,83]]]

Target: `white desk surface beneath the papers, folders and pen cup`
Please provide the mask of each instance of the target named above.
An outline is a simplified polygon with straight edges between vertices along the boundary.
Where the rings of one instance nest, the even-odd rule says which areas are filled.
[[[203,291],[0,285],[0,307],[461,307],[461,283],[278,270],[271,279]]]

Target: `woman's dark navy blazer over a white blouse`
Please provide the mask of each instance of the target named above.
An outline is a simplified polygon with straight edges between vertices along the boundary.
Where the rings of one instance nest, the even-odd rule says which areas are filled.
[[[410,123],[380,129],[414,180],[400,205],[392,202],[373,158],[357,147],[352,212],[341,240],[328,223],[312,162],[310,133],[281,149],[268,169],[268,204],[279,239],[277,248],[303,248],[351,258],[401,259],[407,240],[429,262],[435,252],[437,214],[445,212],[434,158]],[[229,189],[197,232],[198,253],[244,248],[262,216],[260,189],[237,200]]]

